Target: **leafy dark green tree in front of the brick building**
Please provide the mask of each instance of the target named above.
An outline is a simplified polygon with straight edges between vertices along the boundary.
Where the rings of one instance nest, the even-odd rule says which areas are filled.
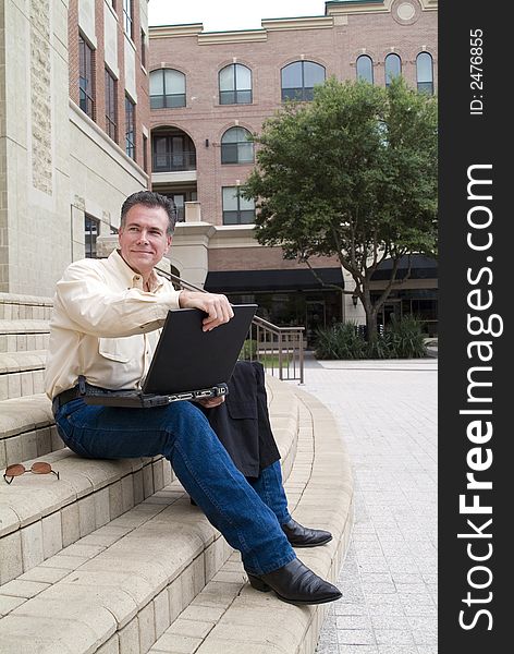
[[[388,88],[328,80],[313,102],[268,119],[243,194],[257,198],[255,235],[310,266],[336,255],[366,312],[368,340],[400,259],[437,253],[437,101],[396,78]],[[392,259],[371,300],[371,276]],[[407,276],[408,276],[407,271]]]

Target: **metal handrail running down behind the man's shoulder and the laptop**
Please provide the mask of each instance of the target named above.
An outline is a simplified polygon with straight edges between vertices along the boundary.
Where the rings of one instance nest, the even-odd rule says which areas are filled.
[[[207,291],[176,275],[157,270],[176,286],[189,291]],[[279,379],[304,383],[305,327],[278,327],[260,316],[254,316],[242,354],[250,361],[260,361],[267,373]]]

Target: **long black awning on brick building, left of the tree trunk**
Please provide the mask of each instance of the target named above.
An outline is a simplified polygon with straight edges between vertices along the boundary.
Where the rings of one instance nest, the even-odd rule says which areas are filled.
[[[340,268],[316,268],[325,283],[344,288]],[[323,287],[308,268],[289,270],[217,270],[205,282],[211,293],[253,293],[259,291],[311,291]],[[327,289],[328,290],[328,289]]]

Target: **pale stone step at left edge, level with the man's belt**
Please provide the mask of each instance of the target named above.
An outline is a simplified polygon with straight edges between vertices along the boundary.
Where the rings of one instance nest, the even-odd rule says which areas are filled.
[[[44,392],[46,350],[0,352],[0,401]]]

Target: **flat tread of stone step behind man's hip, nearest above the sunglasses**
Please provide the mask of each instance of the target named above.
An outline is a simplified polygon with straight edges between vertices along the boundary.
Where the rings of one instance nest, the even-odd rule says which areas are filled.
[[[44,392],[0,401],[0,438],[52,424],[51,402]]]

